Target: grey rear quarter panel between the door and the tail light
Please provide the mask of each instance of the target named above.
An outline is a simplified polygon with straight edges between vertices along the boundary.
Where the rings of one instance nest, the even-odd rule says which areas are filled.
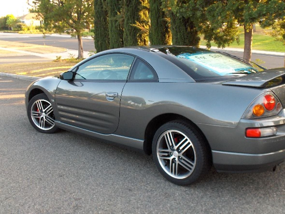
[[[154,117],[174,113],[194,123],[235,127],[264,91],[210,83],[127,82],[121,97],[117,134],[144,139]]]

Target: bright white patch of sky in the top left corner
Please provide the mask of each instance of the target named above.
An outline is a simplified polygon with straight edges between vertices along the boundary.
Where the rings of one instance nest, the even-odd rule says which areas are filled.
[[[31,1],[30,1],[31,2]],[[0,0],[0,17],[13,14],[15,17],[29,13],[27,0]]]

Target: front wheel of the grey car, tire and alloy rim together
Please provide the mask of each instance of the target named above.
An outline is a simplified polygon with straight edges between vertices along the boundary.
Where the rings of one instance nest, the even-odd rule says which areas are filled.
[[[54,133],[58,130],[55,126],[52,104],[46,94],[38,94],[34,96],[27,109],[30,124],[41,133]]]

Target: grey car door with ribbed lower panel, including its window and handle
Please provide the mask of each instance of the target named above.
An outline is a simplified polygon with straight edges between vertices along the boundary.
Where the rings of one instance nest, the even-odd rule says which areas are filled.
[[[73,80],[62,80],[55,102],[60,122],[103,134],[116,131],[121,93],[135,57],[113,53],[76,68]]]

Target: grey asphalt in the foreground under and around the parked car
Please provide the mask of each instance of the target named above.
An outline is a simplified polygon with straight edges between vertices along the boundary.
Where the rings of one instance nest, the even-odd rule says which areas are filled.
[[[29,81],[0,77],[0,213],[284,213],[285,165],[177,186],[151,156],[29,124]]]

